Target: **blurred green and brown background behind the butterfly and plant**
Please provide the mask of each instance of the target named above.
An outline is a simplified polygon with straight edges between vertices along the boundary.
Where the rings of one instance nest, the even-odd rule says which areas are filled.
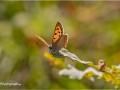
[[[19,82],[20,89],[114,88],[104,80],[71,80],[58,76],[44,57],[47,47],[36,47],[27,36],[37,34],[49,44],[57,21],[69,35],[67,49],[95,64],[108,66],[120,59],[120,2],[0,1],[0,82]],[[77,64],[77,68],[85,66]]]

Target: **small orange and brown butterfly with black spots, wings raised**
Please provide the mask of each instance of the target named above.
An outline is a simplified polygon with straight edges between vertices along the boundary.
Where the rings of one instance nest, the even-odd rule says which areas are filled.
[[[57,58],[62,58],[63,55],[59,52],[62,48],[66,48],[68,43],[68,35],[64,34],[63,26],[60,22],[57,22],[55,25],[52,42],[49,45],[44,39],[37,36],[39,43],[45,44],[49,48],[49,52]]]

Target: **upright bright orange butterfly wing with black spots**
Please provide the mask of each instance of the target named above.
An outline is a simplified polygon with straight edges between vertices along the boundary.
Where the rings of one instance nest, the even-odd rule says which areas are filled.
[[[62,35],[63,35],[62,24],[60,22],[57,22],[55,26],[54,34],[53,34],[52,45],[54,45]]]

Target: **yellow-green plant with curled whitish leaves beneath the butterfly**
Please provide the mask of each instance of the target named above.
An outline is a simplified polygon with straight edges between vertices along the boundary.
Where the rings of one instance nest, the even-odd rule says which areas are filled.
[[[59,75],[69,76],[70,79],[78,79],[78,80],[82,79],[83,77],[86,77],[86,78],[88,78],[90,80],[93,80],[93,81],[94,81],[93,76],[96,75],[96,76],[99,77],[99,79],[104,78],[106,82],[111,82],[112,84],[114,84],[115,88],[119,88],[119,85],[120,85],[120,68],[116,68],[117,66],[112,66],[112,68],[109,68],[109,67],[106,66],[106,63],[103,60],[100,60],[98,65],[95,65],[92,62],[82,61],[75,54],[70,53],[66,49],[60,50],[60,52],[61,53],[64,52],[62,54],[64,56],[67,56],[67,57],[71,58],[73,61],[78,59],[77,60],[78,62],[80,62],[84,65],[87,65],[88,68],[85,69],[84,71],[81,71],[81,70],[77,70],[75,67],[68,64],[68,68],[62,69],[59,72]],[[57,66],[58,65],[63,66],[61,63],[58,64],[58,61],[56,60],[56,58],[53,58],[50,55],[49,56],[45,55],[45,56],[48,58],[48,60],[52,59],[51,62],[54,61],[53,65],[56,65],[56,63],[57,63]],[[101,65],[101,63],[100,63],[101,61],[104,64]],[[105,65],[105,66],[103,67],[103,65]]]

